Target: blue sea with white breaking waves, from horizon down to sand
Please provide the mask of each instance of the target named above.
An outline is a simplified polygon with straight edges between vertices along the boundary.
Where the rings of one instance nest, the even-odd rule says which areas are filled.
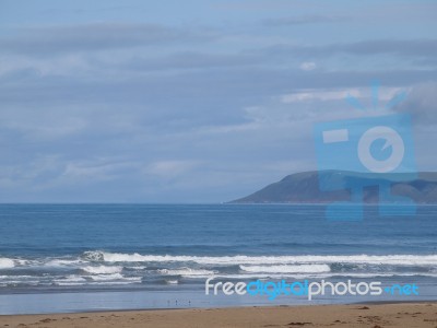
[[[309,304],[298,296],[205,295],[215,281],[380,281],[437,300],[437,207],[332,222],[324,206],[1,204],[0,314]]]

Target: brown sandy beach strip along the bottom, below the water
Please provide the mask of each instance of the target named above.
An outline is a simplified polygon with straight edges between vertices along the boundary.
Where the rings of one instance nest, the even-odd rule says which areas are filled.
[[[0,316],[0,327],[437,327],[437,303]]]

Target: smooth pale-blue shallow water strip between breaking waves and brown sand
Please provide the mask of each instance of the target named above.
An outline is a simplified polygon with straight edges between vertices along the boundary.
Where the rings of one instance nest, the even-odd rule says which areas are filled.
[[[428,290],[429,286],[424,286]],[[424,304],[437,303],[435,292],[421,297],[399,296],[392,300],[371,297],[338,298],[324,297],[314,302],[307,298],[290,298],[280,295],[274,302],[264,297],[243,295],[226,297],[224,295],[208,296],[203,292],[187,291],[125,291],[125,292],[74,292],[48,294],[0,295],[0,316],[7,315],[55,315],[55,314],[93,314],[120,313],[135,311],[174,311],[174,309],[209,309],[209,308],[247,308],[281,306],[319,306],[319,305],[385,305],[385,304]],[[1,324],[1,320],[0,320]],[[0,325],[1,328],[1,325]]]

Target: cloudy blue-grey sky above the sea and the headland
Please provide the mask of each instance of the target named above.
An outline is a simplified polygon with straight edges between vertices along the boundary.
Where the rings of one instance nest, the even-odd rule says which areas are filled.
[[[0,202],[228,201],[398,113],[436,171],[436,103],[437,1],[0,0]]]

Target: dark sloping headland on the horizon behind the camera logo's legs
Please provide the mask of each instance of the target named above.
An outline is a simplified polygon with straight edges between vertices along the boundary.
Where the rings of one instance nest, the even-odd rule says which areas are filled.
[[[402,178],[402,174],[383,176],[382,179],[378,175],[346,171],[296,173],[229,203],[327,203],[350,200],[351,192],[347,188],[351,186],[366,186],[363,189],[364,201],[375,203],[379,201],[377,186],[380,184],[389,184],[392,195],[409,197],[416,203],[437,203],[437,173],[421,172],[409,179],[408,175]],[[340,186],[334,188],[339,190],[321,191],[319,178],[323,186]]]

